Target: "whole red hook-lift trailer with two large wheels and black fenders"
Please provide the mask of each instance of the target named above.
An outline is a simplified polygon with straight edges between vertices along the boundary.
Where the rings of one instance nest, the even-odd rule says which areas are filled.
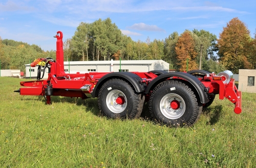
[[[51,96],[97,98],[100,111],[109,118],[138,118],[144,102],[148,113],[168,126],[194,124],[203,107],[227,98],[240,114],[241,91],[234,85],[231,71],[219,74],[204,70],[184,72],[89,72],[66,73],[63,65],[62,32],[57,32],[56,61],[39,58],[31,66],[49,69],[48,78],[22,81],[20,95],[44,96],[51,104]],[[40,71],[40,69],[38,69]],[[45,72],[45,71],[44,71]]]

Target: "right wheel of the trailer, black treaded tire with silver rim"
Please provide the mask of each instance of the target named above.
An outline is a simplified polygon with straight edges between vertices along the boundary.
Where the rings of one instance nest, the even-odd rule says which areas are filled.
[[[171,107],[174,102],[178,106]],[[148,105],[151,115],[167,126],[193,125],[202,113],[202,104],[194,92],[178,80],[161,82],[153,90]]]

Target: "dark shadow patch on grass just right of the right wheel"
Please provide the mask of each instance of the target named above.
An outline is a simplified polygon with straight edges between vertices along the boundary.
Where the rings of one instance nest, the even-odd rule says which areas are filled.
[[[222,105],[216,105],[216,106],[209,106],[205,109],[203,109],[203,114],[206,116],[209,116],[209,122],[206,124],[214,125],[217,123],[220,119],[221,111],[223,109]]]

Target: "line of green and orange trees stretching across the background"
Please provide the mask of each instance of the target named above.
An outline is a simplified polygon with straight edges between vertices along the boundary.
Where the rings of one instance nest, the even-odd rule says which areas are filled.
[[[231,19],[220,38],[208,31],[185,30],[174,32],[164,40],[150,37],[145,42],[133,41],[121,33],[110,18],[93,23],[81,22],[71,39],[63,42],[65,61],[102,60],[164,60],[170,69],[178,71],[200,68],[209,72],[225,69],[238,73],[239,69],[255,69],[256,35],[250,32],[244,22]],[[0,40],[0,60],[2,69],[20,69],[36,58],[55,58],[55,52],[44,51],[37,45],[29,45],[13,40]]]

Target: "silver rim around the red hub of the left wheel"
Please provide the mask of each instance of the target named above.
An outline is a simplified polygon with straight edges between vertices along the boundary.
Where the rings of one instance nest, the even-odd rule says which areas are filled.
[[[124,98],[123,104],[116,103],[116,99],[120,96]],[[106,95],[106,106],[108,106],[113,113],[122,113],[127,106],[126,96],[119,90],[113,90]]]

